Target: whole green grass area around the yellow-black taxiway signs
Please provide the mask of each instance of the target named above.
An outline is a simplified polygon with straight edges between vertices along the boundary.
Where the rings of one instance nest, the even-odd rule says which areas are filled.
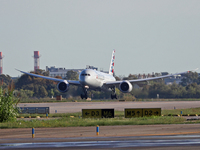
[[[0,123],[0,128],[43,128],[43,127],[76,127],[76,126],[109,126],[109,125],[153,125],[153,124],[186,124],[200,123],[199,120],[187,121],[184,117],[174,117],[169,115],[177,115],[180,112],[183,114],[198,114],[200,108],[191,109],[175,109],[163,110],[164,116],[139,117],[139,118],[124,118],[123,111],[115,111],[115,118],[102,119],[82,119],[80,113],[65,113],[65,114],[21,114],[17,121]],[[31,119],[26,119],[31,116]],[[40,119],[36,119],[40,116]],[[21,118],[24,117],[24,118]]]

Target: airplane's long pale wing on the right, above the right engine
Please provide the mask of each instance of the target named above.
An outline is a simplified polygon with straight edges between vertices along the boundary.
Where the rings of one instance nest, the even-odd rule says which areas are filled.
[[[196,71],[198,70],[195,69],[195,70],[191,70],[191,71]],[[185,72],[180,72],[180,73],[175,73],[175,74],[170,74],[170,75],[165,75],[165,76],[159,76],[159,77],[152,77],[152,78],[145,78],[145,79],[135,79],[135,80],[128,80],[130,83],[138,83],[138,82],[145,82],[145,81],[152,81],[152,80],[158,80],[158,79],[163,79],[163,78],[168,78],[168,77],[172,77],[172,76],[175,76],[175,75],[180,75],[180,74],[185,74],[185,73],[188,73],[190,71],[185,71]],[[116,85],[116,84],[120,84],[121,82],[123,81],[108,81],[106,83],[104,83],[104,85]]]

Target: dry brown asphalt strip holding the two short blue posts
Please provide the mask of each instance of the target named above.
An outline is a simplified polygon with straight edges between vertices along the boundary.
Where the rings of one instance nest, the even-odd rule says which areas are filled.
[[[200,124],[100,126],[99,132],[97,136],[96,126],[35,128],[35,139],[200,134]],[[0,129],[0,133],[0,143],[5,142],[3,139],[15,138],[26,141],[32,137],[32,128]]]

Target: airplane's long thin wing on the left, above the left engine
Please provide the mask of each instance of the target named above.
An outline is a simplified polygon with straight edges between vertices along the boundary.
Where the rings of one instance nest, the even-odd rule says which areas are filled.
[[[21,71],[21,70],[18,70],[18,69],[16,69],[16,70],[21,72],[21,73],[24,73],[24,74],[27,74],[27,75],[30,75],[30,76],[34,76],[34,77],[38,77],[38,78],[48,79],[48,80],[52,80],[52,81],[56,81],[56,82],[67,81],[71,85],[81,85],[79,81],[57,79],[57,78],[52,78],[52,77],[47,77],[47,76],[42,76],[42,75],[37,75],[37,74],[33,74],[33,73],[24,72],[24,71]]]

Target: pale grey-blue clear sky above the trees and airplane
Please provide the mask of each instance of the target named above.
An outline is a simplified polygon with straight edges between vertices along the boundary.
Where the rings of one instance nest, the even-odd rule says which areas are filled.
[[[40,68],[177,73],[200,67],[199,0],[0,0],[3,73]],[[197,71],[198,72],[198,71]]]

